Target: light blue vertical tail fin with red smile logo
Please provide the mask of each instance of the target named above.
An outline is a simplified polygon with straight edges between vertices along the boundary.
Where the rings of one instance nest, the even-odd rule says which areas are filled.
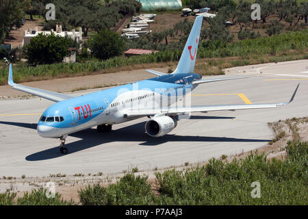
[[[179,64],[177,64],[177,68],[172,74],[187,74],[194,72],[194,63],[196,62],[202,21],[203,16],[196,17],[192,30],[190,31],[190,36],[188,37],[179,60]]]

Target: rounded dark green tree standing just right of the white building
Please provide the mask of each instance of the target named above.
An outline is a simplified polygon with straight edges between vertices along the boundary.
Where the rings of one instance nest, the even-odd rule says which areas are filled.
[[[125,40],[109,29],[99,31],[89,39],[88,44],[92,54],[101,60],[122,55],[125,49]]]

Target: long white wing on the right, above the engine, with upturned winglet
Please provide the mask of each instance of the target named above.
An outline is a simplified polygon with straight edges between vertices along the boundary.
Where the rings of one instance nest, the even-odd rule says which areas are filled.
[[[299,86],[299,83],[298,83]],[[211,112],[222,110],[248,110],[248,109],[264,109],[264,108],[276,108],[279,106],[287,105],[291,103],[298,90],[298,86],[294,91],[290,101],[287,103],[259,103],[259,104],[238,104],[238,105],[196,105],[191,107],[161,107],[157,109],[130,109],[124,112],[124,116],[127,118],[139,117],[139,116],[155,116],[156,114],[177,115],[190,112]]]

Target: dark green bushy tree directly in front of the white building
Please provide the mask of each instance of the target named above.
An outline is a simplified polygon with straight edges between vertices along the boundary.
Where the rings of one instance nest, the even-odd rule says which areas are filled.
[[[30,43],[25,46],[25,53],[31,64],[52,64],[62,62],[68,55],[68,47],[74,46],[76,44],[70,38],[55,36],[53,33],[48,36],[40,33],[31,38]]]

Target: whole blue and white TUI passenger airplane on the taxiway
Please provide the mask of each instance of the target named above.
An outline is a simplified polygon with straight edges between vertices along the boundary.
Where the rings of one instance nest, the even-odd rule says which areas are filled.
[[[202,79],[201,75],[194,73],[202,22],[203,16],[197,16],[177,68],[170,74],[147,70],[157,77],[73,97],[14,83],[10,64],[8,84],[16,90],[56,102],[42,113],[37,132],[43,138],[60,138],[60,152],[64,154],[68,153],[65,147],[68,135],[95,126],[99,132],[108,132],[112,131],[114,124],[147,116],[145,132],[151,137],[160,137],[175,129],[183,114],[275,108],[293,101],[299,83],[287,103],[173,106],[201,83],[246,78]],[[162,98],[167,101],[162,101]]]

